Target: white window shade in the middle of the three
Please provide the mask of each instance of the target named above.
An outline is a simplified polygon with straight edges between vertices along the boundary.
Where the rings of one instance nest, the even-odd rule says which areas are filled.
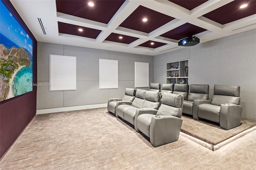
[[[118,60],[100,59],[100,89],[118,89]]]

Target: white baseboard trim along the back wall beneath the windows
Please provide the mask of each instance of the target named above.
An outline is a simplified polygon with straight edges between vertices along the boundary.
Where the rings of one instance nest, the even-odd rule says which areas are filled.
[[[81,105],[81,106],[71,106],[71,107],[58,107],[58,108],[51,108],[51,109],[39,109],[36,110],[36,115],[46,114],[46,113],[56,113],[56,112],[66,112],[66,111],[77,111],[77,110],[84,110],[84,109],[94,109],[100,107],[107,107],[108,103],[100,103],[94,105]]]

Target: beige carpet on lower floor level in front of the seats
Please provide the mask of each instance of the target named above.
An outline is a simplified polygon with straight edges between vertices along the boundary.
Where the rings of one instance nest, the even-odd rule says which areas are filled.
[[[154,148],[106,112],[99,108],[36,115],[0,169],[256,169],[256,130],[214,152],[183,136]]]

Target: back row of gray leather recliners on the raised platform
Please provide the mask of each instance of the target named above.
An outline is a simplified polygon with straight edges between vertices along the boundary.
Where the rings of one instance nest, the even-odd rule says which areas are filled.
[[[162,84],[161,93],[166,89],[168,93],[184,96],[182,113],[192,115],[196,120],[206,119],[219,123],[220,127],[226,130],[240,126],[240,86],[214,85],[211,100],[208,100],[209,85]]]

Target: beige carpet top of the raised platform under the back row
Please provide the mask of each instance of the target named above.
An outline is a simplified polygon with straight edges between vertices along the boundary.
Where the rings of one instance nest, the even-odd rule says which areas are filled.
[[[182,120],[181,132],[212,145],[219,144],[236,134],[256,126],[256,121],[252,119],[241,119],[241,125],[230,130],[220,128],[220,125],[217,123],[207,120],[197,121],[186,115],[182,115]]]

